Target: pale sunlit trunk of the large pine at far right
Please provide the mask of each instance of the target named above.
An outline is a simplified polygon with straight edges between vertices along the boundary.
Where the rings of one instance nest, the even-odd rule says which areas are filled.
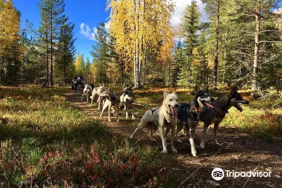
[[[252,90],[258,89],[258,67],[259,67],[259,13],[260,8],[257,7],[255,12],[256,18],[256,33],[255,33],[255,46],[253,56],[253,78],[252,78]]]

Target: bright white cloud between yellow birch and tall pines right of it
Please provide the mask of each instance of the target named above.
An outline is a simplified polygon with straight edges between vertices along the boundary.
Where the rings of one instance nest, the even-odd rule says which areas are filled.
[[[170,20],[170,23],[172,26],[177,26],[180,24],[180,18],[183,15],[183,12],[185,8],[187,7],[187,4],[191,5],[191,0],[174,0],[175,2],[175,12],[174,15],[172,15],[172,18]],[[205,11],[206,5],[201,2],[201,0],[197,0],[197,4],[200,9],[200,13],[202,14],[202,18],[200,21],[207,21],[207,15]]]

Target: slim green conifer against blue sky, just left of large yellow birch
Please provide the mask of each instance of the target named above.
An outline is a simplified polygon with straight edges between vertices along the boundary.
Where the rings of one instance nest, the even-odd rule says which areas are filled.
[[[107,36],[108,33],[106,31],[105,23],[99,22],[99,26],[97,26],[97,35],[95,35],[95,39],[97,40],[96,45],[92,45],[92,51],[90,54],[96,61],[96,65],[100,69],[99,74],[99,83],[107,81],[106,77],[106,66],[109,61],[108,58],[108,45],[107,45]]]

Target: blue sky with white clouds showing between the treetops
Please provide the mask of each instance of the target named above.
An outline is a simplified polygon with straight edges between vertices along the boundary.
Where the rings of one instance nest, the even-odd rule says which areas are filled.
[[[34,28],[39,26],[40,15],[36,3],[39,0],[13,0],[15,7],[21,12],[21,27],[25,26],[25,20],[28,19],[34,24]],[[106,10],[107,0],[65,0],[65,15],[69,16],[69,21],[75,23],[76,52],[84,54],[84,57],[89,57],[92,62],[92,57],[89,53],[92,50],[92,44],[95,44],[95,28],[99,22],[107,22],[109,11]],[[187,6],[191,4],[191,0],[174,0],[176,10],[171,20],[172,25],[180,23],[182,13]],[[198,0],[200,12],[203,14],[201,21],[207,20],[204,11],[205,5]],[[107,24],[107,27],[109,25]]]

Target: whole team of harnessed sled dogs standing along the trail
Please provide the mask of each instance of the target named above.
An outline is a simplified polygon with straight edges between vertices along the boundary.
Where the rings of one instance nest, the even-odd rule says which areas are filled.
[[[178,103],[175,90],[170,94],[164,91],[162,105],[145,112],[138,127],[134,130],[130,138],[133,138],[139,130],[146,127],[148,129],[150,140],[156,141],[153,138],[153,132],[159,128],[163,152],[167,153],[166,137],[171,130],[170,148],[173,153],[177,153],[174,148],[174,139],[176,139],[176,142],[181,143],[181,140],[177,135],[178,132],[182,130],[183,134],[189,138],[191,153],[195,157],[197,152],[194,144],[194,136],[196,127],[201,121],[204,123],[204,130],[200,147],[202,149],[205,148],[206,132],[211,124],[214,124],[214,144],[216,146],[221,146],[221,144],[217,142],[217,129],[219,123],[224,119],[225,115],[228,114],[228,110],[231,107],[235,107],[242,112],[243,108],[239,105],[239,103],[249,103],[249,101],[242,98],[237,90],[237,87],[233,87],[230,92],[215,100],[208,91],[208,87],[202,91],[199,86],[195,86],[195,98],[190,103]],[[126,111],[126,119],[128,119],[128,108],[132,107],[132,119],[135,119],[134,105],[132,104],[135,103],[135,96],[132,86],[127,85],[122,92],[123,95],[118,96],[118,94],[112,91],[111,88],[106,89],[104,84],[93,88],[93,90],[89,84],[85,84],[81,101],[86,95],[88,102],[88,96],[90,96],[92,106],[94,98],[97,97],[98,109],[100,109],[100,102],[103,103],[100,117],[105,109],[108,108],[108,121],[111,121],[111,110],[113,115],[116,115],[117,121],[119,121],[118,111],[122,105],[125,106],[123,108],[123,112],[124,110]]]

